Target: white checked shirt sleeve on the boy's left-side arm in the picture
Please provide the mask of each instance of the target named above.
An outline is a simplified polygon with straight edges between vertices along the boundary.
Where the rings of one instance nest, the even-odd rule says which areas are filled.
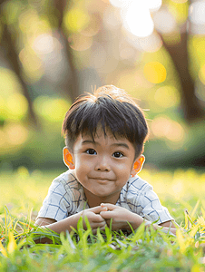
[[[48,218],[60,221],[68,217],[72,199],[59,181],[53,181],[43,206],[38,213],[38,218]]]

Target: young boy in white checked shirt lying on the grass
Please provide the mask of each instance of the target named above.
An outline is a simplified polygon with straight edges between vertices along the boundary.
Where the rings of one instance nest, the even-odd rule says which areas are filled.
[[[113,85],[78,97],[63,121],[69,170],[57,177],[44,199],[35,224],[55,232],[76,228],[84,217],[93,233],[138,228],[143,221],[175,232],[168,209],[137,173],[144,163],[148,126],[142,110]]]

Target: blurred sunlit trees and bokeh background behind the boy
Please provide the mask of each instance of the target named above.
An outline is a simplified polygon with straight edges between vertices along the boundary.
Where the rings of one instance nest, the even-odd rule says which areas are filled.
[[[205,167],[205,1],[0,0],[0,170],[66,169],[79,94],[114,84],[151,135],[146,168]]]

